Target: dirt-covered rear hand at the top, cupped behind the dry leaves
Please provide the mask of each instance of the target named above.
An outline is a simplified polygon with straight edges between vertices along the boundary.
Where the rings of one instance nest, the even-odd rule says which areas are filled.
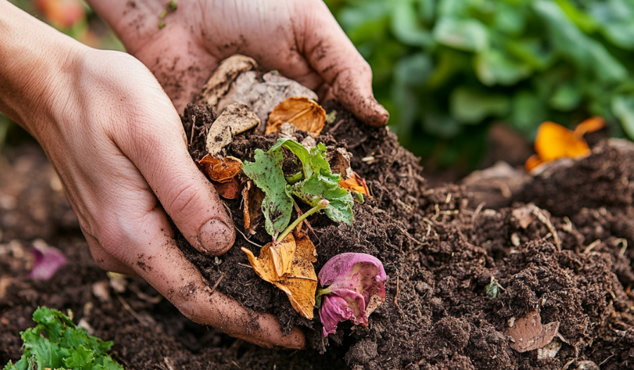
[[[332,92],[363,122],[380,126],[389,118],[374,99],[370,66],[321,0],[175,1],[175,11],[159,0],[89,3],[156,75],[178,111],[219,61],[244,54],[321,96]]]

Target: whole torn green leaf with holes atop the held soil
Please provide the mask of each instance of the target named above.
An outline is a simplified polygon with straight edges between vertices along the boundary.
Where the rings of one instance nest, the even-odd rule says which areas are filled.
[[[285,178],[282,147],[289,149],[302,163],[301,176]],[[294,140],[280,139],[268,152],[256,149],[255,161],[245,162],[242,171],[266,195],[262,211],[266,218],[266,232],[270,235],[278,235],[288,226],[292,196],[313,207],[322,199],[327,199],[330,204],[324,209],[326,216],[332,221],[352,225],[354,201],[350,193],[339,185],[341,175],[330,171],[324,144],[319,143],[309,152]]]

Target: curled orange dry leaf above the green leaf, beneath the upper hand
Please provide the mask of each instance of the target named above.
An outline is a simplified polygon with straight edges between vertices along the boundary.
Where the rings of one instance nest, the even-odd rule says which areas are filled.
[[[266,135],[278,132],[286,122],[318,137],[325,125],[325,111],[316,101],[305,97],[290,97],[275,106],[268,116]]]

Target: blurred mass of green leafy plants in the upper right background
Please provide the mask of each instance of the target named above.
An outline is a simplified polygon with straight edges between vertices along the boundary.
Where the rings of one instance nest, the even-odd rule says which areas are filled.
[[[437,163],[473,165],[492,121],[533,137],[542,121],[599,115],[634,138],[634,0],[326,4],[371,64],[392,129]]]

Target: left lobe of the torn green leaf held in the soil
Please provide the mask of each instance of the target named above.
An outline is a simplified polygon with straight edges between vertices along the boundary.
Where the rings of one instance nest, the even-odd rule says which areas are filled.
[[[282,172],[282,161],[282,149],[276,144],[268,152],[256,149],[255,161],[244,162],[242,165],[244,174],[265,194],[262,201],[262,213],[266,219],[264,227],[273,236],[284,231],[293,209],[293,199],[287,191]]]

